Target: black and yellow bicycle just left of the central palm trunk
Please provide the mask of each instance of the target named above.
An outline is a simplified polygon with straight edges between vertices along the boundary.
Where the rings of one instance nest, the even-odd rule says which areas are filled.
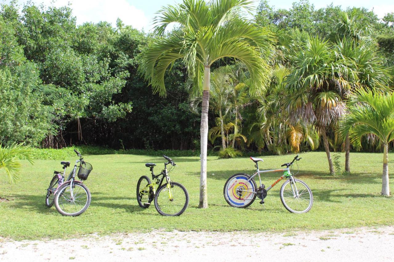
[[[137,183],[137,202],[142,208],[148,208],[154,201],[154,207],[162,216],[180,216],[188,207],[189,194],[186,188],[180,183],[171,181],[169,172],[177,166],[175,162],[163,155],[168,161],[164,163],[164,170],[158,175],[154,175],[154,163],[146,163],[152,173],[152,180],[146,175],[141,176]],[[167,170],[167,165],[171,164],[171,168]],[[163,181],[166,181],[162,185]]]

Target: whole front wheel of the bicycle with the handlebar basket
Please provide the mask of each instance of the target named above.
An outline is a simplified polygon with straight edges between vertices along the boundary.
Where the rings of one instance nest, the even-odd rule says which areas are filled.
[[[56,210],[63,216],[79,216],[90,205],[90,191],[79,181],[61,185],[55,195]]]

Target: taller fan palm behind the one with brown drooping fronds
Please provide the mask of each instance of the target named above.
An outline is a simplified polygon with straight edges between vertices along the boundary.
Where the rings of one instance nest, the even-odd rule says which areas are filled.
[[[335,54],[338,70],[346,78],[340,94],[343,101],[347,100],[350,89],[364,87],[375,88],[379,85],[387,86],[388,77],[382,68],[381,61],[369,46],[368,39],[372,33],[371,25],[366,22],[362,13],[353,10],[351,13],[340,11],[335,30],[329,34],[329,39],[335,44]],[[368,70],[364,74],[364,69]],[[364,77],[363,77],[364,75]],[[338,81],[338,85],[342,82]],[[346,86],[347,85],[347,86]],[[350,173],[350,140],[347,135],[345,141],[345,171]]]

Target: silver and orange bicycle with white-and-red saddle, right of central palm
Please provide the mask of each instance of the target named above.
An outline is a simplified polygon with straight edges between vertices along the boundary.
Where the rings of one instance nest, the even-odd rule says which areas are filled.
[[[256,173],[252,176],[245,173],[238,173],[232,175],[225,183],[223,188],[223,195],[226,202],[232,207],[246,208],[249,207],[256,199],[259,197],[261,199],[260,204],[264,205],[264,199],[267,196],[267,192],[273,188],[279,181],[287,178],[280,190],[280,196],[283,206],[292,213],[306,213],[310,210],[313,204],[312,191],[309,186],[303,181],[294,178],[293,163],[294,161],[299,161],[299,155],[294,157],[293,161],[290,163],[282,164],[281,166],[286,166],[283,169],[274,170],[262,170],[258,169],[258,162],[263,161],[262,159],[250,157],[250,159],[255,162]],[[297,164],[298,166],[298,164]],[[291,170],[290,170],[291,168]],[[261,183],[260,173],[268,172],[284,172],[277,181],[275,181],[268,188]],[[298,172],[297,172],[298,173]],[[253,179],[258,175],[260,181],[260,186],[257,188],[256,182]]]

